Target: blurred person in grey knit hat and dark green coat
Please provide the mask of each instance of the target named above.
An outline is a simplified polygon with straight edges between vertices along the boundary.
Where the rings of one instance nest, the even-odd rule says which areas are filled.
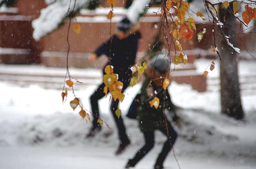
[[[174,145],[178,136],[174,128],[171,126],[170,121],[165,119],[163,115],[164,108],[168,109],[169,111],[172,111],[174,108],[170,100],[168,89],[164,91],[162,88],[163,78],[161,77],[166,77],[168,66],[169,62],[166,60],[166,58],[158,57],[157,59],[155,58],[151,61],[148,69],[145,69],[145,80],[142,84],[139,106],[136,110],[138,113],[137,119],[139,122],[139,127],[143,132],[145,144],[132,159],[128,160],[125,168],[134,167],[139,160],[141,160],[154,147],[154,131],[160,130],[166,135],[167,140],[163,145],[162,151],[158,155],[154,168],[162,169],[163,162],[172,148],[170,142],[172,145]],[[150,77],[152,77],[152,80]],[[159,98],[158,108],[155,108],[154,106],[151,107],[149,103],[149,101],[151,101],[154,97]],[[170,141],[167,136],[167,131],[170,136]]]

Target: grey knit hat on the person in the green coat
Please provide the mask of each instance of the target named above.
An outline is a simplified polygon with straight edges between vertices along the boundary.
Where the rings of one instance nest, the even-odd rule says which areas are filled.
[[[170,66],[169,59],[167,57],[162,57],[162,56],[154,57],[149,63],[149,68],[154,67],[154,69],[157,69],[161,73],[166,72],[169,66]]]

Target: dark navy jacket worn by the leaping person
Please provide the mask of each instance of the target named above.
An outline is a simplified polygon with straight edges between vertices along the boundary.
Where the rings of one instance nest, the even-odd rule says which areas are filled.
[[[114,67],[114,73],[118,74],[121,81],[128,80],[132,76],[130,67],[135,64],[136,53],[138,49],[138,40],[141,35],[138,31],[129,35],[125,39],[118,39],[116,35],[101,45],[94,53],[99,57],[105,54],[110,58],[110,63]],[[111,45],[111,55],[110,52]],[[106,65],[108,65],[107,63]],[[105,67],[104,67],[105,68]],[[103,74],[105,74],[103,69]],[[122,80],[123,79],[123,80]]]

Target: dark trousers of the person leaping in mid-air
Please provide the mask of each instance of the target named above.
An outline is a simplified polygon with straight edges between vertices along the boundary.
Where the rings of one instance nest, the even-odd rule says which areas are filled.
[[[123,91],[129,86],[128,80],[123,81]],[[103,92],[103,89],[105,87],[105,84],[102,83],[98,89],[94,92],[94,94],[91,95],[90,100],[91,100],[91,107],[92,107],[92,112],[96,115],[96,116],[100,116],[99,114],[99,106],[98,106],[98,100],[101,99],[102,97],[105,96],[105,93]],[[109,92],[109,91],[108,91]],[[117,105],[119,103],[119,100],[114,101],[114,99],[112,99],[111,101],[111,112],[112,115],[115,119],[117,128],[118,128],[118,133],[119,133],[119,139],[120,141],[124,141],[125,139],[127,139],[127,134],[126,134],[126,129],[124,127],[124,123],[123,123],[123,119],[120,116],[119,119],[117,118],[117,115],[115,113],[115,111],[117,110]],[[98,127],[98,123],[97,123],[97,118],[93,116],[93,127]]]

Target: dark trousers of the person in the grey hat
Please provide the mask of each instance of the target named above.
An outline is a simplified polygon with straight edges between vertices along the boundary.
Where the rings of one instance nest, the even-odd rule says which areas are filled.
[[[162,133],[167,136],[166,127],[160,129],[160,131],[162,131]],[[174,130],[174,128],[170,125],[170,123],[168,123],[168,131],[169,131],[171,144],[174,145],[175,140],[178,135],[177,135],[176,131]],[[141,160],[154,147],[154,143],[155,143],[154,131],[145,131],[145,132],[143,132],[143,134],[144,134],[144,139],[145,139],[145,145],[136,153],[134,158],[131,160],[133,165],[138,163],[139,160]],[[167,136],[167,140],[163,145],[162,152],[159,154],[155,164],[159,164],[159,165],[163,164],[164,160],[166,159],[167,154],[171,150],[170,141]]]

